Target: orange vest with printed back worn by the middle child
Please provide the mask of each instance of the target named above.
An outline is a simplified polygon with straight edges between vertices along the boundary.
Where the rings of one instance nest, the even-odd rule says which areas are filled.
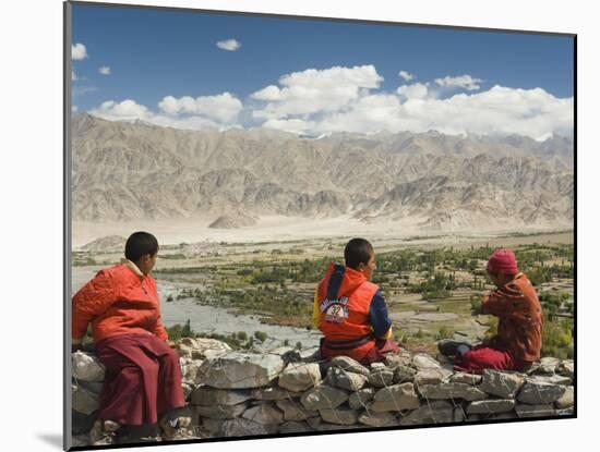
[[[317,288],[323,357],[346,355],[361,361],[375,346],[369,309],[377,290],[360,271],[329,265]]]

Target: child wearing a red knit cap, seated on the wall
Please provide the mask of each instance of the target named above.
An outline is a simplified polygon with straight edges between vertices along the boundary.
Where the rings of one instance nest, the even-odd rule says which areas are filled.
[[[496,249],[487,271],[497,289],[483,298],[481,310],[499,317],[497,334],[473,349],[451,340],[440,341],[437,347],[455,356],[458,370],[524,370],[540,358],[542,345],[543,315],[536,289],[518,271],[509,249]]]

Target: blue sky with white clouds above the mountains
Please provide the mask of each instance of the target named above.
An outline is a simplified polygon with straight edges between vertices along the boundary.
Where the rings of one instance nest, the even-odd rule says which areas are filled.
[[[201,130],[572,135],[569,36],[74,4],[72,111]]]

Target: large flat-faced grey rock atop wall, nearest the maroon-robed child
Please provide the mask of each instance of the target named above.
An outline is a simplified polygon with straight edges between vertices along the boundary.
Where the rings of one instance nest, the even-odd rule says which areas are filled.
[[[223,389],[260,388],[271,384],[283,369],[280,356],[231,352],[202,363],[196,384]]]

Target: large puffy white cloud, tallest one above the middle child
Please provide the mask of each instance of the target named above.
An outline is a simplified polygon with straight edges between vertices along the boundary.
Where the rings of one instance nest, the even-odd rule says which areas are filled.
[[[319,112],[335,112],[377,88],[383,77],[371,64],[353,68],[308,69],[279,78],[281,87],[269,85],[251,95],[268,103],[254,109],[255,119],[288,119]]]

